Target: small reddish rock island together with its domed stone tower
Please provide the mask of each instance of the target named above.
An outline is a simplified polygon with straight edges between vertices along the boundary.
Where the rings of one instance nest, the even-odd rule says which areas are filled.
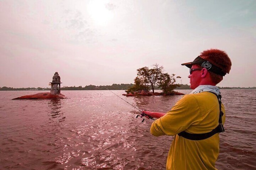
[[[50,82],[50,84],[51,84],[50,92],[36,93],[36,94],[16,97],[12,100],[16,100],[16,99],[64,99],[64,98],[66,98],[65,95],[60,93],[61,82],[60,82],[60,76],[59,76],[58,72],[54,73],[53,81]]]

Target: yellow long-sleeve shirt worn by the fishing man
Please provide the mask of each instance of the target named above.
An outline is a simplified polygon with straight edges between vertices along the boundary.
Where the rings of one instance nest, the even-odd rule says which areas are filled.
[[[225,109],[222,105],[222,122]],[[174,136],[168,153],[166,169],[211,170],[219,155],[219,133],[210,138],[193,141],[178,136],[181,131],[202,134],[219,124],[219,102],[210,92],[184,95],[165,116],[155,120],[150,128],[154,136]]]

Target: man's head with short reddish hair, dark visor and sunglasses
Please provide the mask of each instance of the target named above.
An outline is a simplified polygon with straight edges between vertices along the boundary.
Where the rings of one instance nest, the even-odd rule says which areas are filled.
[[[211,84],[218,84],[222,81],[223,76],[229,73],[232,64],[225,51],[210,49],[203,51],[193,62],[183,63],[181,65],[185,65],[190,69],[192,68],[192,72],[188,77],[190,78],[190,87],[193,89],[198,85],[202,85],[200,84],[201,82],[198,82],[202,78],[210,78]],[[195,68],[197,68],[197,70],[195,70]],[[195,79],[192,80],[194,77],[192,76],[193,72],[201,74],[199,77],[197,76],[197,82],[194,81]],[[194,73],[194,75],[196,73]],[[206,79],[204,79],[203,84],[206,83],[205,80]]]

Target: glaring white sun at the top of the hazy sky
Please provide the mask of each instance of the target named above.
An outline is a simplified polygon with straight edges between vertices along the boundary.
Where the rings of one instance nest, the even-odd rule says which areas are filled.
[[[106,26],[114,17],[113,11],[106,8],[106,1],[93,0],[88,3],[87,11],[93,22],[100,26]]]

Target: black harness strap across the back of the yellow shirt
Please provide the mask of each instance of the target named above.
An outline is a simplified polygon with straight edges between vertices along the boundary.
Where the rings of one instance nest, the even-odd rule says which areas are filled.
[[[213,93],[213,94],[215,94],[215,93]],[[185,131],[182,131],[182,132],[178,133],[178,135],[182,136],[183,138],[189,139],[189,140],[199,141],[199,140],[210,138],[211,136],[213,136],[216,133],[224,132],[225,130],[222,125],[223,112],[221,110],[221,95],[217,96],[217,98],[219,101],[219,125],[215,129],[213,129],[212,131],[210,131],[208,133],[202,133],[202,134],[192,134],[192,133],[187,133]]]

